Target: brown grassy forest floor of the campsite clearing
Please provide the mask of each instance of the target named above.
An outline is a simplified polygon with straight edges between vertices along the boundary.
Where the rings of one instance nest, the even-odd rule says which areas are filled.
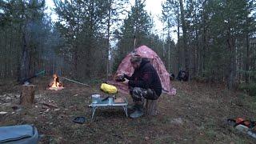
[[[47,90],[50,78],[35,78],[37,86],[32,107],[18,105],[22,86],[12,80],[0,81],[0,126],[34,124],[39,143],[255,143],[227,124],[227,118],[254,119],[256,97],[226,90],[222,85],[172,82],[175,96],[162,94],[158,114],[126,118],[122,109],[97,110],[90,120],[91,94],[103,94],[100,83],[81,86],[65,82],[65,89]],[[118,94],[118,97],[128,95]],[[45,106],[48,103],[52,106]],[[72,122],[86,117],[84,124]]]

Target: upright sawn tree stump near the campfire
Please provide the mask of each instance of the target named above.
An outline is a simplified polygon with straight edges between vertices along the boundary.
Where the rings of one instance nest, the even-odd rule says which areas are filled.
[[[22,85],[22,94],[20,104],[22,106],[31,106],[34,103],[34,85]]]

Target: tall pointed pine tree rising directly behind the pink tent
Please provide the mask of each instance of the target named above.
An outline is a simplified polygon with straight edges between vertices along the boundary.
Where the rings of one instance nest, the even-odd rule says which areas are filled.
[[[150,44],[150,32],[153,27],[150,15],[145,10],[145,0],[135,0],[128,17],[124,20],[118,36],[115,69],[135,47]]]

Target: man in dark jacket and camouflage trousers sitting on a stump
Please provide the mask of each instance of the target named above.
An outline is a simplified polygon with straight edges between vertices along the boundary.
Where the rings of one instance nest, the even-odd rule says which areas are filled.
[[[144,99],[158,99],[162,94],[162,85],[157,71],[147,58],[134,55],[130,58],[130,63],[134,67],[134,74],[131,77],[126,74],[118,74],[118,76],[125,78],[123,83],[129,86],[134,101],[135,111],[130,114],[130,118],[138,118],[144,114]]]

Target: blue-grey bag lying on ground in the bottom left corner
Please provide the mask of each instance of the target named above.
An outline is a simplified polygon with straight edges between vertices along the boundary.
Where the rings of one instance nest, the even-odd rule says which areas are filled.
[[[1,126],[0,143],[36,144],[38,143],[38,130],[31,125]]]

